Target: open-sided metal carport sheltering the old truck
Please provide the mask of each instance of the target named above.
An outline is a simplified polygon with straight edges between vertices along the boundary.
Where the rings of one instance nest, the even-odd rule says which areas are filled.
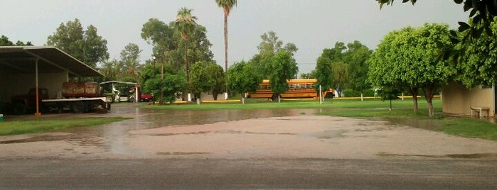
[[[103,75],[54,46],[0,46],[0,103],[38,86],[57,98],[69,77]]]

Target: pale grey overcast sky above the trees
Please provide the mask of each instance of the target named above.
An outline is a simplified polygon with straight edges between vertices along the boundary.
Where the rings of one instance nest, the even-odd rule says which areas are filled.
[[[423,23],[447,23],[457,28],[468,13],[452,0],[424,0],[380,6],[375,0],[238,0],[228,18],[228,67],[257,54],[260,36],[274,31],[283,43],[294,43],[299,72],[311,72],[325,48],[336,42],[360,43],[375,50],[392,30]],[[223,9],[215,0],[0,0],[0,35],[16,42],[45,45],[61,23],[78,18],[82,27],[93,25],[107,40],[110,59],[129,43],[142,50],[141,64],[151,59],[152,45],[141,38],[149,18],[164,23],[176,19],[182,7],[193,9],[213,44],[213,59],[224,68]]]

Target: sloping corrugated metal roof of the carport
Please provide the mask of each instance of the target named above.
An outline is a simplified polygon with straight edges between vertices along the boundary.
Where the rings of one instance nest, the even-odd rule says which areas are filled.
[[[54,46],[0,46],[0,73],[33,73],[68,70],[75,77],[103,77],[100,72]]]

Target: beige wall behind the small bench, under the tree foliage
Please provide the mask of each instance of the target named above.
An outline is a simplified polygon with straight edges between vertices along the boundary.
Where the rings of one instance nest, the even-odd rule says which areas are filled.
[[[455,82],[444,85],[442,86],[443,111],[448,114],[471,115],[471,105],[490,108],[489,116],[494,116],[496,112],[493,91],[493,88],[482,88],[481,86],[467,89]]]

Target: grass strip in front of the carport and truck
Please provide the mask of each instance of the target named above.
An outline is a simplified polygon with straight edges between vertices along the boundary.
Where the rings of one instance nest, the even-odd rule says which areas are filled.
[[[89,127],[123,121],[124,119],[127,118],[33,118],[22,121],[4,121],[0,123],[0,135],[21,135],[63,130],[67,128]]]

